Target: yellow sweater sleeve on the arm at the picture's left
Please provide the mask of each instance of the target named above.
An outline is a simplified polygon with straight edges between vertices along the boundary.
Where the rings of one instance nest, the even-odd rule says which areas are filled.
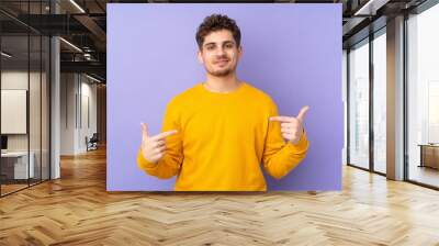
[[[177,113],[176,105],[168,103],[164,124],[161,127],[162,132],[177,130],[177,134],[168,136],[166,138],[167,150],[164,157],[157,163],[150,163],[138,150],[137,154],[137,166],[146,171],[148,175],[156,176],[160,179],[168,179],[177,175],[180,170],[183,161],[183,149],[182,149],[182,130],[179,123],[179,115]]]

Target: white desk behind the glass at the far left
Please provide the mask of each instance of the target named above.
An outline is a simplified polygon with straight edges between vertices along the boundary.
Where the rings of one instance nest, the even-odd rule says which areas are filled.
[[[34,178],[35,169],[34,169],[34,159],[35,154],[30,152],[29,156],[31,157],[31,161],[29,163],[27,169],[27,152],[7,152],[1,153],[1,169],[5,171],[5,176],[10,179],[27,179]],[[11,160],[13,161],[11,164]],[[12,172],[13,169],[13,172]],[[9,174],[8,174],[9,172]],[[12,176],[13,174],[13,176]],[[30,174],[30,177],[27,177]]]

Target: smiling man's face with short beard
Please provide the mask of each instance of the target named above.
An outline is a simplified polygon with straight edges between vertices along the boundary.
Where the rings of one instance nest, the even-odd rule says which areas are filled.
[[[241,54],[241,47],[237,46],[232,32],[219,30],[204,37],[198,56],[209,74],[224,77],[235,72]]]

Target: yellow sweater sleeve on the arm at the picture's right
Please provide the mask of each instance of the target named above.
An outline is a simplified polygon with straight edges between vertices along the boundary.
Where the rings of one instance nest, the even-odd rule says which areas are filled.
[[[272,102],[270,116],[277,115],[278,108]],[[268,124],[262,155],[263,168],[273,178],[281,179],[305,158],[309,143],[304,131],[296,144],[291,142],[285,144],[281,133],[281,123],[269,121]]]

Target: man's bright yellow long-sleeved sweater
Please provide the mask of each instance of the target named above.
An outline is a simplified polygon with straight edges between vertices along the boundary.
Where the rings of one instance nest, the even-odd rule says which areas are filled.
[[[162,131],[167,152],[157,163],[140,152],[137,165],[160,179],[177,175],[176,191],[266,191],[261,170],[280,179],[305,157],[308,141],[285,143],[272,99],[243,82],[228,93],[209,91],[202,83],[175,97],[167,105]]]

